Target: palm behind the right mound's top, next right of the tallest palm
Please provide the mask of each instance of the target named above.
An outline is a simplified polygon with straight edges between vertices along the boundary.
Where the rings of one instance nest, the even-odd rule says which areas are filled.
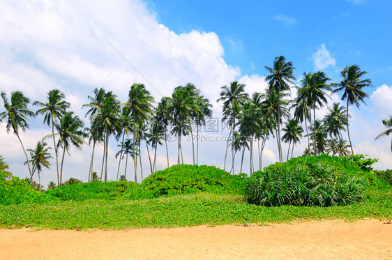
[[[309,72],[308,74],[303,72],[303,79],[301,80],[302,87],[299,89],[299,97],[305,99],[308,107],[313,109],[314,122],[316,121],[316,108],[324,107],[324,104],[327,102],[326,97],[329,97],[325,91],[331,91],[331,87],[327,84],[330,80],[331,79],[326,77],[325,73],[322,71],[317,71],[315,73]],[[312,124],[312,121],[310,121],[310,125],[315,124]],[[312,132],[315,133],[316,131],[313,130]],[[316,144],[315,135],[312,135],[312,137],[313,144]],[[317,153],[316,149],[317,148],[314,146],[313,152],[315,154]]]

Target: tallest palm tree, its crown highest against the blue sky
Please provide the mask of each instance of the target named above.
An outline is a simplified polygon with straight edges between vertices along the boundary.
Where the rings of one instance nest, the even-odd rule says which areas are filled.
[[[289,84],[294,84],[292,80],[296,78],[293,75],[294,67],[292,62],[286,62],[284,56],[276,56],[273,61],[273,68],[265,66],[266,70],[269,71],[270,75],[266,76],[266,81],[269,82],[269,89],[275,89],[278,94],[278,103],[280,99],[280,92],[287,91],[290,89]],[[282,156],[282,143],[280,142],[280,107],[278,107],[278,118],[276,119],[278,126],[278,151],[279,151],[279,162],[283,162]]]

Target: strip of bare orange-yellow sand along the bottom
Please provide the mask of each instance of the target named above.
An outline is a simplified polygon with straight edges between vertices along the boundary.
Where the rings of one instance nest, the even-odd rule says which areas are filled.
[[[392,224],[342,220],[123,231],[0,229],[0,259],[392,259]]]

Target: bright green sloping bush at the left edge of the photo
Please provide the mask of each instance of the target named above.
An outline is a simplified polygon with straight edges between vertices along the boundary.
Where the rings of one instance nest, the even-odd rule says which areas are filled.
[[[6,180],[5,173],[0,171],[0,204],[40,204],[54,200],[56,198],[34,190],[26,180],[14,176]]]

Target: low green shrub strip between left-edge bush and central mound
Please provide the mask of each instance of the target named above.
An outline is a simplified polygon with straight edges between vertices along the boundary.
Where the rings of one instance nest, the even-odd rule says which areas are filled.
[[[62,200],[83,201],[86,199],[118,199],[133,183],[111,181],[108,183],[91,182],[64,185],[45,193]]]

